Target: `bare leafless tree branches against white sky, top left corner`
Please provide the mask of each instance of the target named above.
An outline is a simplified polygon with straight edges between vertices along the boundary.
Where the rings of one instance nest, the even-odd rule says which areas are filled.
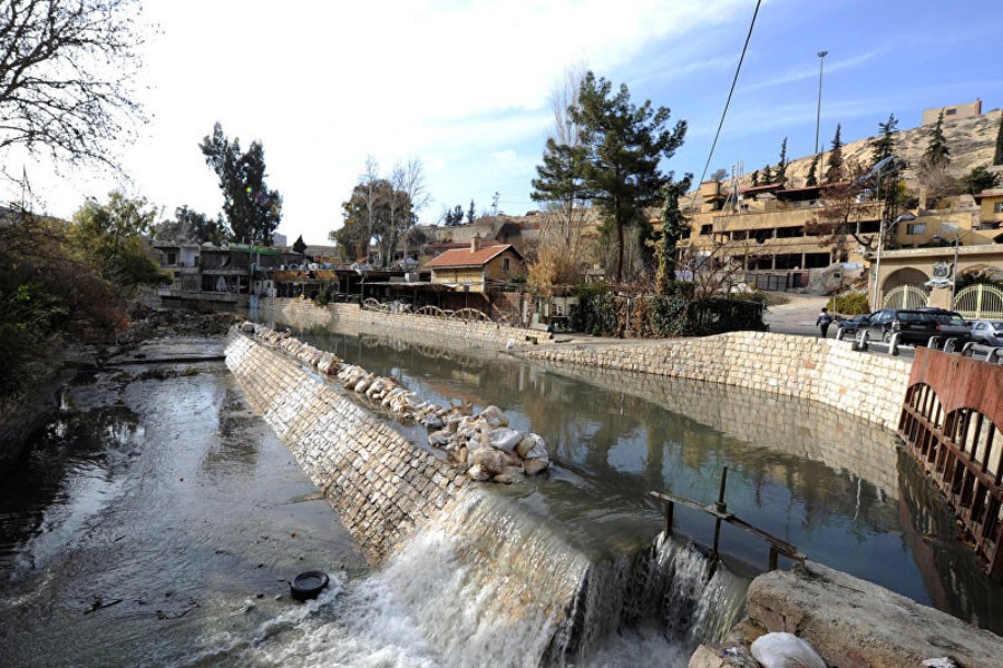
[[[142,121],[138,0],[7,0],[0,4],[0,149],[117,168],[113,143]]]

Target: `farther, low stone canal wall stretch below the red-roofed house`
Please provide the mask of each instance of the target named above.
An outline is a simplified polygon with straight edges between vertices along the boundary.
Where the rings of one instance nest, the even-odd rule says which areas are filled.
[[[400,336],[416,344],[460,348],[516,348],[546,344],[554,340],[553,334],[539,330],[427,315],[382,313],[360,308],[358,304],[318,306],[309,299],[264,297],[259,302],[257,313],[264,320],[282,322],[292,327],[325,327],[345,334]]]

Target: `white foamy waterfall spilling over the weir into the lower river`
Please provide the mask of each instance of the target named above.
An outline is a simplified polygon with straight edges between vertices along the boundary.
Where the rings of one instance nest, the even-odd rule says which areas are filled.
[[[221,633],[193,665],[685,666],[741,612],[744,583],[691,548],[590,563],[512,508],[470,494],[378,572],[332,578],[251,637]]]

